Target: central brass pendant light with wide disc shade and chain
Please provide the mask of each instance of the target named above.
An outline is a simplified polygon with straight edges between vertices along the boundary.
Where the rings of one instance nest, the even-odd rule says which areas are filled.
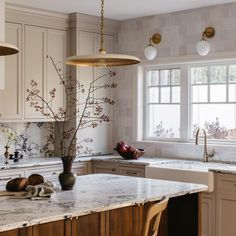
[[[104,43],[104,0],[101,0],[101,47],[98,54],[79,55],[67,58],[66,64],[75,66],[126,66],[140,63],[140,59],[124,54],[108,54],[103,47]]]

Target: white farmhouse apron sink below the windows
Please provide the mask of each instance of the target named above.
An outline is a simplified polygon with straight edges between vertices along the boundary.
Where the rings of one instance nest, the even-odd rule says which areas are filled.
[[[215,163],[203,163],[197,161],[175,161],[157,165],[146,166],[145,177],[180,181],[208,186],[207,192],[214,190],[214,173],[209,169],[214,168]]]

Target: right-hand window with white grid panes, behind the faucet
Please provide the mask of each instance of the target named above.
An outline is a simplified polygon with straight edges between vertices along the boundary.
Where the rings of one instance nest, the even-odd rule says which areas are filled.
[[[192,137],[236,140],[236,64],[191,67]]]

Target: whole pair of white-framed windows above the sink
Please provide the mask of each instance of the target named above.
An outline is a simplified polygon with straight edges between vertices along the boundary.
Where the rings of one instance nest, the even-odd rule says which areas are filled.
[[[144,139],[236,141],[236,62],[145,69]]]

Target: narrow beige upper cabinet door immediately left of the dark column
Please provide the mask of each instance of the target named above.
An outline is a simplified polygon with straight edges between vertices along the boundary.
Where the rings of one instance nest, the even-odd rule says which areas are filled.
[[[49,92],[56,89],[56,96],[52,100],[51,108],[58,111],[64,107],[64,87],[60,84],[60,78],[52,64],[50,57],[54,60],[60,74],[66,74],[65,59],[67,57],[67,32],[63,30],[47,30],[47,76],[46,76],[46,98],[49,101]]]

